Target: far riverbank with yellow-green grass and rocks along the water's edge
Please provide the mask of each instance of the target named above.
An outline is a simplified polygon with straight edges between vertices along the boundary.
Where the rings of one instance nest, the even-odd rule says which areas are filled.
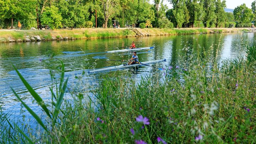
[[[145,28],[133,32],[126,28],[82,28],[73,30],[0,30],[0,42],[60,41],[92,38],[161,36],[175,34],[240,32],[244,28]]]

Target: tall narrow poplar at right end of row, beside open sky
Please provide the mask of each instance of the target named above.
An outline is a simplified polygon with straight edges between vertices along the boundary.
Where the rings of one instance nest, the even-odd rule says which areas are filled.
[[[215,1],[215,15],[216,15],[216,27],[218,27],[221,23],[223,23],[225,21],[225,10],[224,8],[226,7],[226,1],[223,0],[217,0]]]

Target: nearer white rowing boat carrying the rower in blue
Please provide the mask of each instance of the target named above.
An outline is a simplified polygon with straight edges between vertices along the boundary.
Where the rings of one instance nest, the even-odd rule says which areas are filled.
[[[129,67],[132,67],[132,66],[141,66],[143,64],[152,64],[152,63],[165,62],[165,61],[166,61],[166,59],[151,60],[151,61],[148,61],[148,62],[141,62],[140,64],[132,64],[132,65],[122,64],[122,65],[118,65],[118,66],[111,66],[111,67],[108,67],[108,68],[94,69],[94,70],[88,71],[88,73],[95,73],[95,72],[98,72],[98,71],[113,70],[113,69],[114,70],[123,69],[123,68],[129,68]]]

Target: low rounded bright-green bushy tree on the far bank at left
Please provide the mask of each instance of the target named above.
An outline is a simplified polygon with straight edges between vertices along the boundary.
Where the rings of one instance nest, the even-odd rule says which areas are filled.
[[[45,7],[45,11],[42,13],[41,22],[43,25],[48,25],[50,28],[59,28],[61,27],[62,16],[58,11],[58,7],[51,6]]]

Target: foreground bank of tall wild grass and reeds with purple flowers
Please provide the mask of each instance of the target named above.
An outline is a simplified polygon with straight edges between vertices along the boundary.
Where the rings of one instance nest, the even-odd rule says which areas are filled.
[[[21,127],[0,111],[1,143],[255,143],[255,46],[247,47],[246,59],[225,60],[221,68],[208,53],[203,60],[189,55],[138,85],[108,75],[91,91],[94,97],[69,87],[76,90],[69,101],[64,65],[56,62],[45,61],[60,75],[58,87],[53,79],[50,102],[43,102],[20,75],[46,122],[24,103],[40,129]]]

